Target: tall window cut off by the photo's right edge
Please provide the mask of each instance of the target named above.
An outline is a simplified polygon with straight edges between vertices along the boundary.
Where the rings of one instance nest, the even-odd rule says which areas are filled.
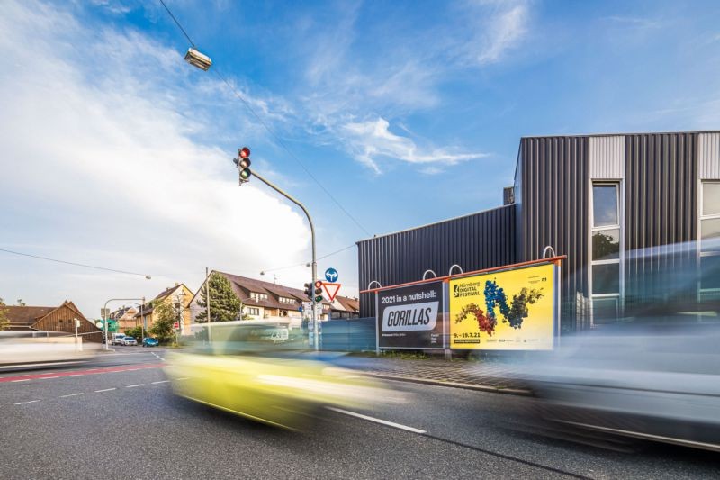
[[[720,299],[720,182],[700,190],[700,300]]]

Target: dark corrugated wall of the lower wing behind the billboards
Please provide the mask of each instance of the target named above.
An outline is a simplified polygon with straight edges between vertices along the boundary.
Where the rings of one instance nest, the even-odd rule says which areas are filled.
[[[383,286],[421,280],[428,269],[446,276],[454,264],[465,272],[508,265],[516,260],[515,205],[361,240],[357,249],[361,290],[373,280]],[[374,314],[374,294],[360,294],[360,316]]]

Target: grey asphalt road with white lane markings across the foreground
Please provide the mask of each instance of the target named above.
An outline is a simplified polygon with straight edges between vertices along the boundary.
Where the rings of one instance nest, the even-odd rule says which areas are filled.
[[[163,355],[0,374],[0,478],[720,477],[712,453],[556,439],[532,399],[439,386],[388,382],[406,403],[277,430],[175,397]]]

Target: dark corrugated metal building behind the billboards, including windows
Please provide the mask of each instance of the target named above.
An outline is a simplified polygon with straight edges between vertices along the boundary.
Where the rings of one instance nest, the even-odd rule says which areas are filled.
[[[720,236],[711,195],[720,132],[526,137],[506,206],[358,242],[360,288],[536,260],[551,247],[567,256],[562,331],[614,322],[658,269],[720,261],[698,241]],[[362,316],[373,298],[361,295]]]

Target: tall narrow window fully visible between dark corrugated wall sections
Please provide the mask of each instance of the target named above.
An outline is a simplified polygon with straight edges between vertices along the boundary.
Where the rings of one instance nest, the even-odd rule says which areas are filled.
[[[593,322],[615,322],[622,298],[621,197],[618,182],[592,184],[590,297]]]

